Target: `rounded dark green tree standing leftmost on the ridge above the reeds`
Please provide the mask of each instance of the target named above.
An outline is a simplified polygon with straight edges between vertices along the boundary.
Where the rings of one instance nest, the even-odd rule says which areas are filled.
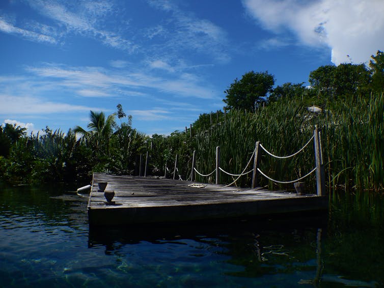
[[[275,77],[265,72],[250,71],[237,78],[225,91],[223,100],[228,108],[255,111],[255,108],[266,101],[267,94],[275,84]]]

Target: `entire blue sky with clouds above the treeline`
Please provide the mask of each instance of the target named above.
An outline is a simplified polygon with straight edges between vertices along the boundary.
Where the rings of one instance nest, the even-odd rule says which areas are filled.
[[[120,103],[144,133],[183,130],[251,70],[279,85],[368,63],[383,14],[382,0],[2,0],[0,124],[66,132]]]

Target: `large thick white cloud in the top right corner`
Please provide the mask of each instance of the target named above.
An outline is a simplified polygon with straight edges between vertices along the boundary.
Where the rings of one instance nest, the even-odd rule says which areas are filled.
[[[366,63],[384,49],[384,1],[382,0],[243,0],[244,7],[267,30],[314,47],[332,49],[335,64]]]

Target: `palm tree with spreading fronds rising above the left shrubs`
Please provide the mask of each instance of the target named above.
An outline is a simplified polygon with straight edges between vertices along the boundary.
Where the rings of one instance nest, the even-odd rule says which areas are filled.
[[[75,133],[81,134],[81,137],[84,137],[86,140],[95,141],[96,148],[99,148],[103,143],[107,143],[109,141],[109,137],[113,133],[113,125],[115,123],[116,114],[113,113],[105,118],[104,112],[90,112],[90,123],[87,127],[90,129],[89,131],[81,128],[80,126],[76,126],[73,131]]]

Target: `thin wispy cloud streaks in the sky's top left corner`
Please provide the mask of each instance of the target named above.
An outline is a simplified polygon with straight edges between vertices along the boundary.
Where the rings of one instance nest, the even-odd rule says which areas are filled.
[[[115,13],[110,1],[86,0],[76,5],[57,0],[27,0],[27,2],[36,12],[50,19],[50,25],[36,19],[22,19],[24,25],[20,27],[8,21],[6,15],[3,15],[0,16],[0,31],[20,35],[31,41],[51,44],[62,43],[71,35],[81,35],[128,52],[133,52],[139,47],[120,35],[117,29],[105,28],[107,17]]]

